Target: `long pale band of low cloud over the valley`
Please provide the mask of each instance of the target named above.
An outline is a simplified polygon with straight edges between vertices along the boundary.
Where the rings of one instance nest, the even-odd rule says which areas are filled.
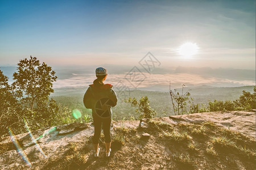
[[[198,74],[188,74],[188,73],[177,73],[177,74],[148,74],[143,73],[133,80],[129,80],[127,74],[112,74],[109,75],[105,83],[113,84],[115,89],[118,90],[118,83],[121,81],[122,86],[129,87],[130,89],[137,86],[137,88],[147,88],[151,87],[165,87],[163,91],[167,90],[169,82],[172,83],[172,88],[180,88],[181,84],[185,84],[187,87],[196,87],[196,86],[253,86],[255,80],[234,80],[227,78],[216,78],[213,76],[200,76]],[[146,77],[144,80],[143,78]],[[87,87],[89,84],[93,83],[95,75],[90,76],[73,76],[69,79],[60,79],[54,83],[53,88],[79,88]],[[141,81],[141,82],[140,82]]]

